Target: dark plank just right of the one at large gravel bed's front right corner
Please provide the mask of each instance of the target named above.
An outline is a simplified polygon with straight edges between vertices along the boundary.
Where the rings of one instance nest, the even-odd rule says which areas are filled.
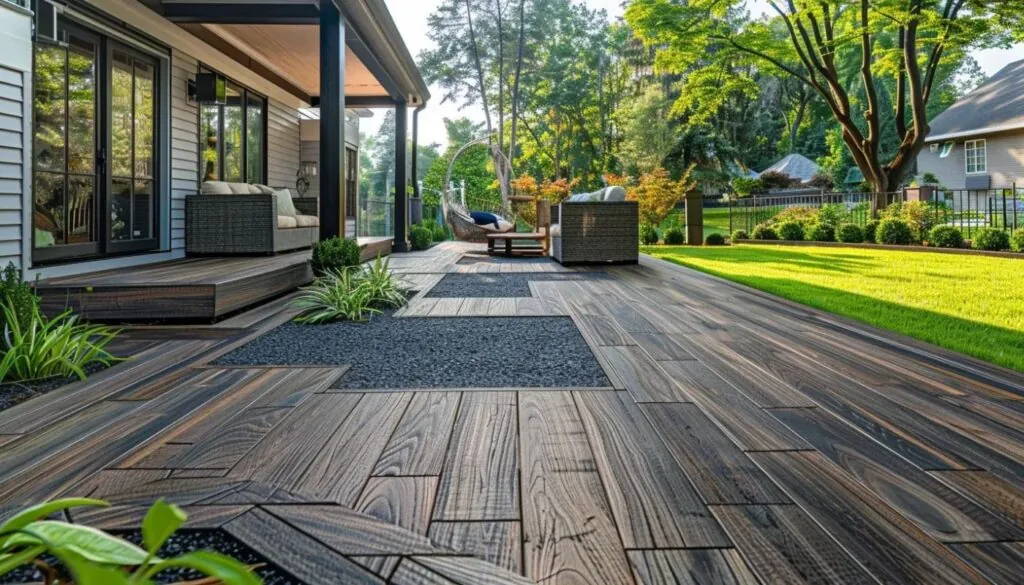
[[[641,408],[706,503],[790,502],[697,406],[642,405]]]

